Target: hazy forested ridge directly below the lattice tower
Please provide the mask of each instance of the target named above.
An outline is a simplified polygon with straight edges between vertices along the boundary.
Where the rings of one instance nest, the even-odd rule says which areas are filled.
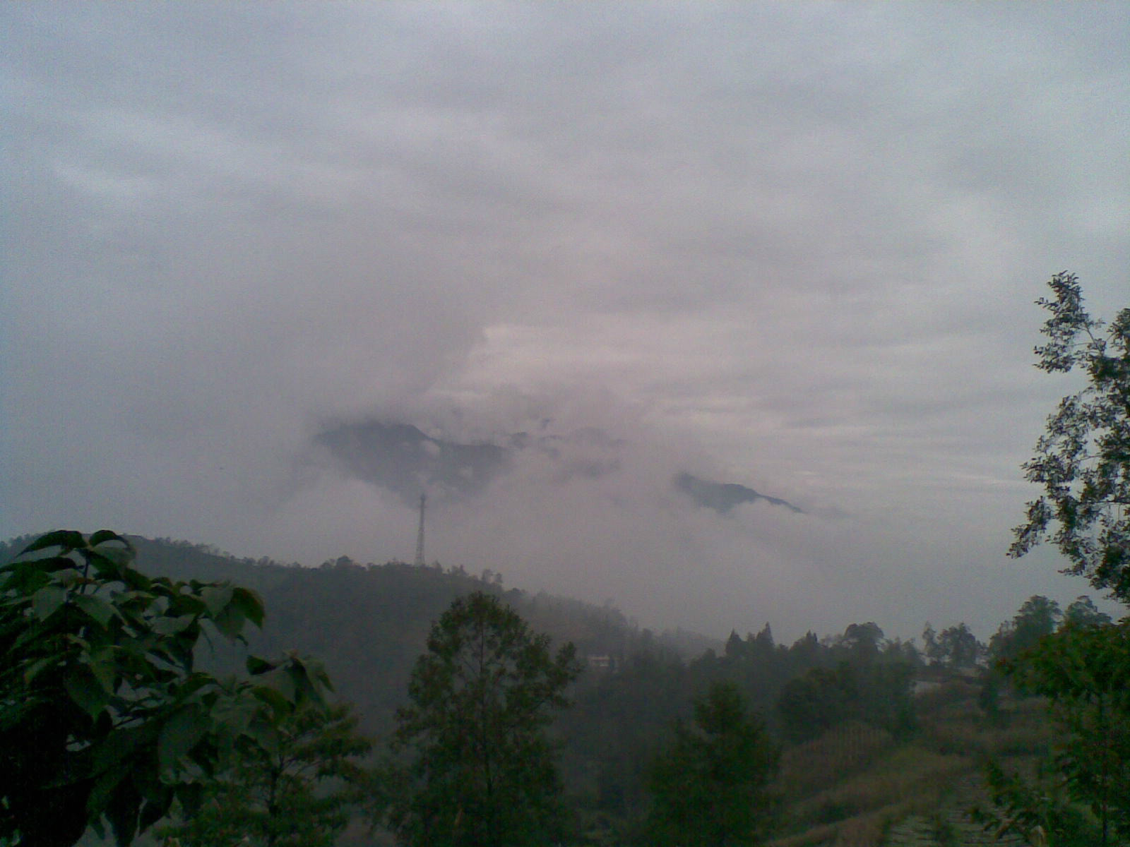
[[[7,561],[31,541],[0,547]],[[428,629],[452,600],[472,591],[499,594],[538,631],[572,641],[583,658],[618,666],[641,650],[692,655],[711,641],[687,632],[653,635],[611,605],[594,606],[545,594],[505,588],[501,575],[463,568],[414,567],[392,561],[362,565],[348,558],[307,568],[269,559],[240,559],[203,544],[130,536],[144,573],[174,579],[226,580],[257,591],[267,619],[247,634],[246,649],[214,645],[201,660],[221,670],[242,667],[245,653],[284,650],[318,656],[344,699],[355,702],[370,732],[390,726],[403,701],[408,675],[424,650]]]

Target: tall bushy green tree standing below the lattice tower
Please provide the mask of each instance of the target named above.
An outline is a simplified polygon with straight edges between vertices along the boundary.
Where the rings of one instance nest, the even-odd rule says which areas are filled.
[[[564,811],[546,727],[581,671],[572,644],[549,637],[497,597],[452,603],[416,663],[397,742],[409,759],[391,821],[406,844],[545,844]]]

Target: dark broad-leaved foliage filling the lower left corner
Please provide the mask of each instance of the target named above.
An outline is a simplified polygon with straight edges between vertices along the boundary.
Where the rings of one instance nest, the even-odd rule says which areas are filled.
[[[0,567],[0,839],[69,847],[108,822],[119,845],[177,801],[190,813],[227,757],[321,705],[315,663],[251,658],[251,680],[194,666],[208,630],[262,623],[253,592],[149,578],[103,530],[58,531]]]

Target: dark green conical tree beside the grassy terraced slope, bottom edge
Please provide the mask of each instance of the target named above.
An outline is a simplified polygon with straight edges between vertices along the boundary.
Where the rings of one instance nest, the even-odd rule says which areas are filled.
[[[738,687],[715,682],[695,701],[694,723],[652,765],[647,842],[750,847],[773,822],[768,783],[780,753]]]

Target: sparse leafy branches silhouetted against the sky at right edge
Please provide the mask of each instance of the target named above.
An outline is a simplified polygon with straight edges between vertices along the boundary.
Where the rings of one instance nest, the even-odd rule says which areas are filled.
[[[1130,308],[1105,328],[1087,314],[1078,278],[1057,273],[1048,342],[1035,349],[1049,374],[1080,368],[1087,385],[1060,401],[1024,465],[1044,492],[1028,504],[1009,553],[1024,556],[1051,532],[1070,562],[1066,573],[1130,602]]]

